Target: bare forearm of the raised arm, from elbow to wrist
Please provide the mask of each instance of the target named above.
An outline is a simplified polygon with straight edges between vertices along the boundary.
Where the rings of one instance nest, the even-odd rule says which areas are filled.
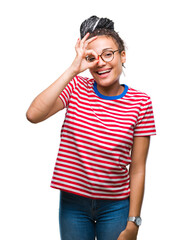
[[[36,123],[46,118],[60,93],[75,75],[72,68],[68,68],[54,83],[41,92],[27,110],[27,119]]]

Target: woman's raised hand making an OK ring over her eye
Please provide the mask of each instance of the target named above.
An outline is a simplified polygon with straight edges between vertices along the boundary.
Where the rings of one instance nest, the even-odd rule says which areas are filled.
[[[88,37],[89,37],[89,33],[87,33],[82,40],[78,39],[75,46],[76,57],[71,67],[73,71],[76,73],[76,75],[85,71],[88,68],[94,67],[98,63],[97,53],[93,50],[87,50],[88,44],[94,41],[97,38],[97,36],[87,40]],[[88,62],[86,60],[87,55],[94,56],[95,60],[93,62]]]

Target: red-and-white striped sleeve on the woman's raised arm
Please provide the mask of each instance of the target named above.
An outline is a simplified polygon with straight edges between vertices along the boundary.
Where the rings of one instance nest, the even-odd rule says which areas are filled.
[[[69,100],[71,98],[73,91],[76,88],[77,83],[78,83],[78,78],[76,76],[66,85],[66,87],[63,89],[63,91],[59,95],[60,99],[63,101],[65,108],[68,107]]]

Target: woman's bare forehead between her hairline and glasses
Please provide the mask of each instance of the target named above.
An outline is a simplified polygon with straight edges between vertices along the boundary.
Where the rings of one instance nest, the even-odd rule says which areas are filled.
[[[93,42],[88,44],[88,49],[93,49],[96,52],[102,52],[106,48],[117,49],[117,45],[109,36],[98,36]]]

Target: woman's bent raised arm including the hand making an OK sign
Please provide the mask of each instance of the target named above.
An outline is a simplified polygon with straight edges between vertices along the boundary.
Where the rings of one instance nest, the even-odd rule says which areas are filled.
[[[77,74],[93,67],[97,63],[96,60],[93,63],[89,63],[85,59],[88,54],[94,55],[95,59],[97,59],[97,54],[94,51],[87,50],[87,45],[94,41],[96,37],[87,40],[88,36],[89,34],[86,34],[82,40],[78,39],[75,46],[77,54],[71,66],[33,100],[26,113],[26,117],[30,122],[41,122],[63,109],[63,102],[59,98],[60,93]]]

